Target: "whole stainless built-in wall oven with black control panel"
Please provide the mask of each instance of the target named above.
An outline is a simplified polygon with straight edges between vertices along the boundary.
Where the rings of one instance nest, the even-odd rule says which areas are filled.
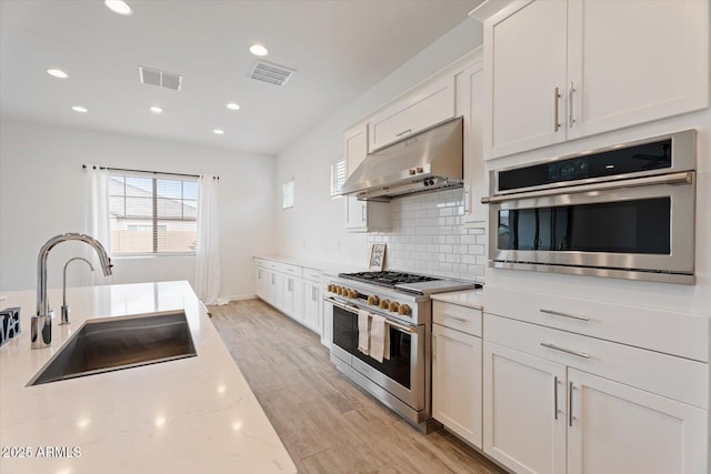
[[[489,265],[694,283],[695,131],[493,171]]]

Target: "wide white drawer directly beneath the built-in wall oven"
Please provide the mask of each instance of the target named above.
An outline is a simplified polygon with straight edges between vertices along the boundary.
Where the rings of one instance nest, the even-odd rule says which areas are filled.
[[[487,313],[709,362],[711,320],[651,307],[488,286]]]

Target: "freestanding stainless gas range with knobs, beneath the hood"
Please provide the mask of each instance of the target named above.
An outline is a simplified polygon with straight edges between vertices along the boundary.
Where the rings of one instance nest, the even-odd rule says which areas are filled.
[[[402,272],[341,273],[324,296],[332,317],[331,362],[357,385],[405,420],[430,432],[431,302],[429,294],[481,288],[471,282]],[[390,359],[382,362],[358,351],[358,311],[385,317]]]

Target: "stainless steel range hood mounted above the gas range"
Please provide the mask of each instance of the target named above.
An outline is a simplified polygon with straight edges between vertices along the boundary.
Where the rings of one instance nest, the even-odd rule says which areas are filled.
[[[463,185],[463,119],[449,120],[365,157],[341,188],[362,201]]]

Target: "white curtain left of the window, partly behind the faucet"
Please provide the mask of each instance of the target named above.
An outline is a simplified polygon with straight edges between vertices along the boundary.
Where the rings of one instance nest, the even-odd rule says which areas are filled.
[[[106,249],[109,256],[111,255],[111,232],[109,231],[109,170],[102,170],[100,167],[87,165],[87,199],[86,199],[86,216],[84,233],[91,235]],[[87,253],[89,252],[87,248]],[[87,255],[91,258],[92,255]],[[106,276],[101,272],[91,272],[93,284],[107,284]]]

